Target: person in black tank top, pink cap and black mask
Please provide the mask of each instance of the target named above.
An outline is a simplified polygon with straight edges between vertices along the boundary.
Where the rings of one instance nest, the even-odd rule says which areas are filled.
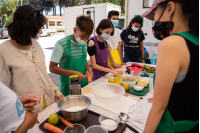
[[[154,0],[142,16],[154,20],[152,32],[162,40],[144,133],[198,133],[199,1]]]

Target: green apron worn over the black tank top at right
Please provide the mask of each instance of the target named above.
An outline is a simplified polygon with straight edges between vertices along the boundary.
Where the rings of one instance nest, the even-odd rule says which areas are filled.
[[[199,37],[195,37],[189,32],[173,33],[171,35],[180,35],[190,40],[195,45],[199,45]],[[153,83],[155,84],[155,74],[154,74]],[[187,132],[187,131],[190,131],[193,127],[195,127],[198,123],[199,123],[199,120],[198,121],[191,121],[191,120],[174,121],[167,107],[155,133]]]

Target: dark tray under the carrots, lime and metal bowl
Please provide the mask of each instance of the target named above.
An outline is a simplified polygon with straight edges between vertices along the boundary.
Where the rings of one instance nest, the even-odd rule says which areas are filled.
[[[62,116],[61,111],[58,111],[56,114]],[[85,127],[85,129],[87,129],[88,127],[93,126],[93,125],[100,125],[99,116],[100,116],[100,114],[97,114],[93,111],[88,110],[88,114],[87,114],[86,118],[83,119],[82,121],[76,122],[76,123],[82,124]],[[42,130],[45,133],[52,133],[43,128],[45,123],[48,123],[48,119],[46,119],[45,121],[43,121],[40,124],[40,126],[39,126],[40,130]],[[72,124],[73,124],[73,122],[72,122]],[[66,128],[66,126],[62,122],[59,122],[58,125],[56,125],[56,127],[59,127],[62,130],[64,130]],[[126,128],[126,125],[124,123],[120,122],[117,129],[115,131],[112,131],[109,133],[121,133],[125,128]]]

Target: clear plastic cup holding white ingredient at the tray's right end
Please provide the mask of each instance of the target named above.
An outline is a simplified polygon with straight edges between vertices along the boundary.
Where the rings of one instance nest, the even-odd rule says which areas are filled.
[[[115,129],[117,129],[119,121],[119,116],[113,113],[101,114],[99,117],[100,125],[107,131],[114,131]]]

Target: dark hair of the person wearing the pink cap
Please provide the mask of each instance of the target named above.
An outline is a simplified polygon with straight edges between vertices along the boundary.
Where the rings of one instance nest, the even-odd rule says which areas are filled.
[[[184,15],[189,15],[188,27],[192,33],[199,35],[199,0],[166,0],[159,4],[161,7],[166,7],[168,2],[177,2],[181,5]]]

